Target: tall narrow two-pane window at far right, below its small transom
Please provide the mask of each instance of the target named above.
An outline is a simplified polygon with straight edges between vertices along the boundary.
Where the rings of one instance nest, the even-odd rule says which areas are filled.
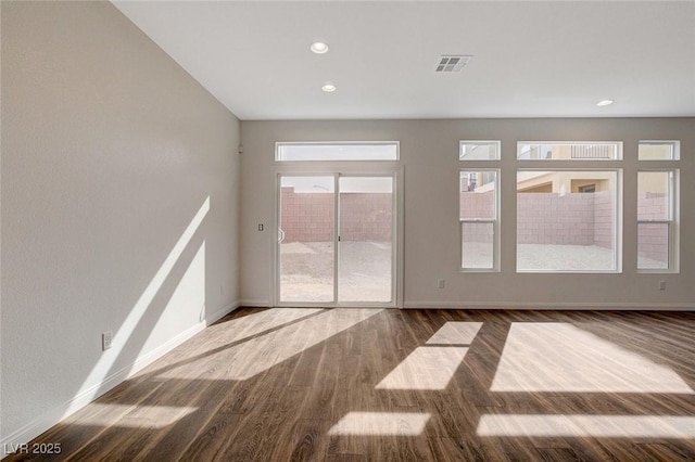
[[[675,271],[678,170],[637,172],[637,269]]]

